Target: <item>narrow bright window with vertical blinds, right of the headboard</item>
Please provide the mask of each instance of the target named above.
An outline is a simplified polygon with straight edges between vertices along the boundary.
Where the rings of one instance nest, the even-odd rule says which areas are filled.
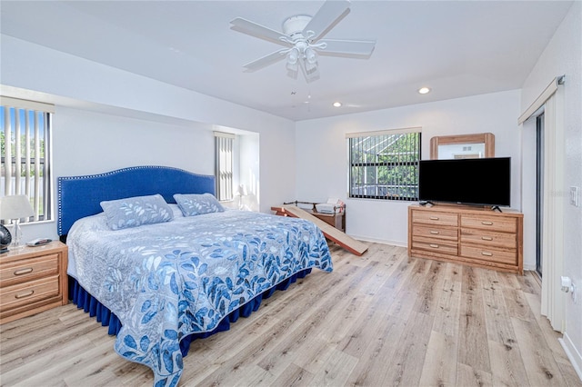
[[[233,154],[235,134],[215,132],[215,145],[216,198],[219,201],[233,200]]]

